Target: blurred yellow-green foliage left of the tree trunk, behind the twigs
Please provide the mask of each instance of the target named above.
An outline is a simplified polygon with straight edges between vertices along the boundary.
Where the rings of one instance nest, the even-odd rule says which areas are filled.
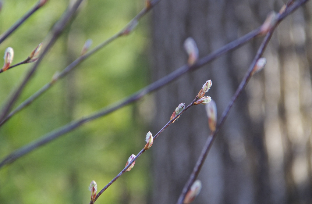
[[[1,33],[36,2],[4,0],[0,12]],[[13,64],[24,60],[43,41],[68,3],[68,0],[48,1],[0,45],[0,53],[12,47],[15,51]],[[84,1],[76,19],[41,62],[17,104],[76,59],[85,40],[92,39],[91,48],[95,47],[124,27],[143,6],[142,0]],[[147,22],[148,17],[144,17],[133,33],[115,40],[85,60],[3,125],[0,128],[0,157],[144,87],[149,82]],[[21,65],[0,74],[2,104],[31,66]],[[140,104],[143,104],[141,112],[148,111],[144,110],[149,108],[144,100],[124,107],[0,169],[0,203],[89,203],[90,182],[97,182],[99,192],[124,168],[128,157],[144,146],[148,130],[144,129],[141,116],[136,113],[142,109]],[[146,203],[149,166],[147,152],[96,203]]]

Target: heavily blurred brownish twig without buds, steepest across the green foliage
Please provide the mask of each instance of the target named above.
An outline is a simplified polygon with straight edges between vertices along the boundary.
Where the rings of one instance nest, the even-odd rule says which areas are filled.
[[[52,29],[51,37],[46,45],[44,47],[42,53],[40,54],[38,60],[35,62],[33,67],[27,72],[26,76],[24,77],[22,83],[18,86],[18,88],[13,92],[12,96],[9,97],[8,102],[4,105],[2,108],[1,114],[0,114],[0,121],[3,121],[3,119],[7,116],[7,113],[10,111],[11,107],[14,105],[16,102],[17,98],[20,96],[22,90],[26,86],[27,82],[31,79],[32,75],[36,72],[37,67],[43,57],[46,55],[48,50],[53,46],[53,44],[56,42],[56,39],[61,35],[61,32],[66,26],[66,23],[70,20],[70,18],[73,16],[73,14],[76,12],[78,6],[82,0],[77,0],[75,4],[71,7],[68,8],[61,19],[55,24],[55,26]]]

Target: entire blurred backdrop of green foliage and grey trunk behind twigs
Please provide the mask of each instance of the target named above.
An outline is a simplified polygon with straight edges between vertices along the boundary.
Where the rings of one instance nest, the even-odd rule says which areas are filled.
[[[5,0],[4,32],[36,1]],[[72,2],[72,1],[71,1]],[[50,0],[0,45],[24,60],[66,9]],[[200,57],[260,26],[282,0],[162,0],[127,37],[80,64],[29,107],[0,128],[0,158],[68,122],[93,113],[187,62],[183,42],[193,37]],[[119,31],[144,1],[85,0],[76,18],[42,61],[19,102],[56,71]],[[194,203],[312,203],[312,3],[276,29],[255,75],[233,107],[199,175],[203,187]],[[187,73],[155,94],[41,147],[0,169],[0,203],[89,203],[89,184],[104,187],[128,157],[168,122],[175,107],[193,100],[207,79],[218,116],[241,81],[261,38],[201,69]],[[0,74],[5,102],[30,64]],[[168,127],[134,168],[120,177],[98,203],[175,203],[209,134],[202,105]]]

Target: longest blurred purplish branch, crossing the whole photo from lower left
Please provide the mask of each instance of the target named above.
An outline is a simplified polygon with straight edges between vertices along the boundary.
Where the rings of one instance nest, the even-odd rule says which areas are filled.
[[[306,2],[306,1],[308,1],[308,0],[304,0],[304,2]],[[303,3],[301,3],[300,5],[302,5],[302,4]],[[286,10],[284,13],[282,13],[279,16],[278,21],[283,20],[287,15],[289,15],[291,12],[293,12],[300,5],[298,5],[298,3],[294,4],[293,7],[291,7],[291,9]],[[109,114],[115,110],[118,110],[121,107],[128,105],[129,103],[132,103],[134,101],[139,100],[140,98],[142,98],[147,93],[153,92],[153,91],[159,89],[160,87],[163,87],[164,85],[168,84],[169,82],[172,82],[174,79],[178,78],[182,74],[189,72],[189,71],[196,70],[197,68],[207,64],[208,62],[219,57],[220,55],[222,55],[228,51],[231,51],[234,48],[241,46],[243,43],[249,41],[253,37],[256,37],[259,33],[260,33],[260,28],[257,28],[256,30],[251,31],[251,32],[247,33],[246,35],[236,39],[235,41],[232,41],[232,42],[228,43],[227,45],[219,48],[218,50],[212,52],[211,54],[207,55],[206,57],[201,58],[193,66],[189,67],[188,65],[184,65],[184,66],[178,68],[176,71],[170,73],[169,75],[157,80],[154,83],[151,83],[149,86],[144,87],[143,89],[132,94],[131,96],[129,96],[129,97],[127,97],[127,98],[125,98],[119,102],[115,102],[114,104],[112,104],[108,107],[105,107],[104,109],[100,110],[99,112],[91,114],[90,116],[87,116],[87,117],[82,117],[79,120],[73,121],[73,122],[71,122],[71,123],[69,123],[63,127],[60,127],[58,129],[50,132],[50,133],[47,133],[46,135],[43,135],[41,138],[37,139],[36,141],[33,141],[33,142],[15,150],[14,152],[9,154],[8,156],[6,156],[0,162],[0,168],[2,166],[4,166],[5,164],[12,163],[13,161],[18,159],[19,157],[22,157],[23,155],[31,152],[32,150],[34,150],[34,149],[36,149],[36,148],[38,148],[38,147],[40,147],[40,146],[42,146],[48,142],[51,142],[52,140],[60,137],[61,135],[65,134],[67,132],[70,132],[77,127],[80,127],[81,125],[83,125],[86,122],[89,122],[89,121],[92,121],[92,120],[99,118],[101,116],[107,115],[107,114]]]

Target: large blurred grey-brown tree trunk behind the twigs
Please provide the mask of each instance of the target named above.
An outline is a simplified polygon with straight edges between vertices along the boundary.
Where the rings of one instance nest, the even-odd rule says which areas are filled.
[[[161,1],[153,14],[153,79],[187,62],[187,37],[195,39],[202,57],[260,26],[282,5],[274,0]],[[251,79],[209,152],[194,203],[312,203],[311,9],[309,2],[275,31],[265,70]],[[178,104],[189,104],[207,79],[212,88],[206,95],[216,101],[220,117],[261,40],[159,90],[154,132]],[[198,105],[154,143],[152,203],[176,203],[208,134],[205,108]]]

